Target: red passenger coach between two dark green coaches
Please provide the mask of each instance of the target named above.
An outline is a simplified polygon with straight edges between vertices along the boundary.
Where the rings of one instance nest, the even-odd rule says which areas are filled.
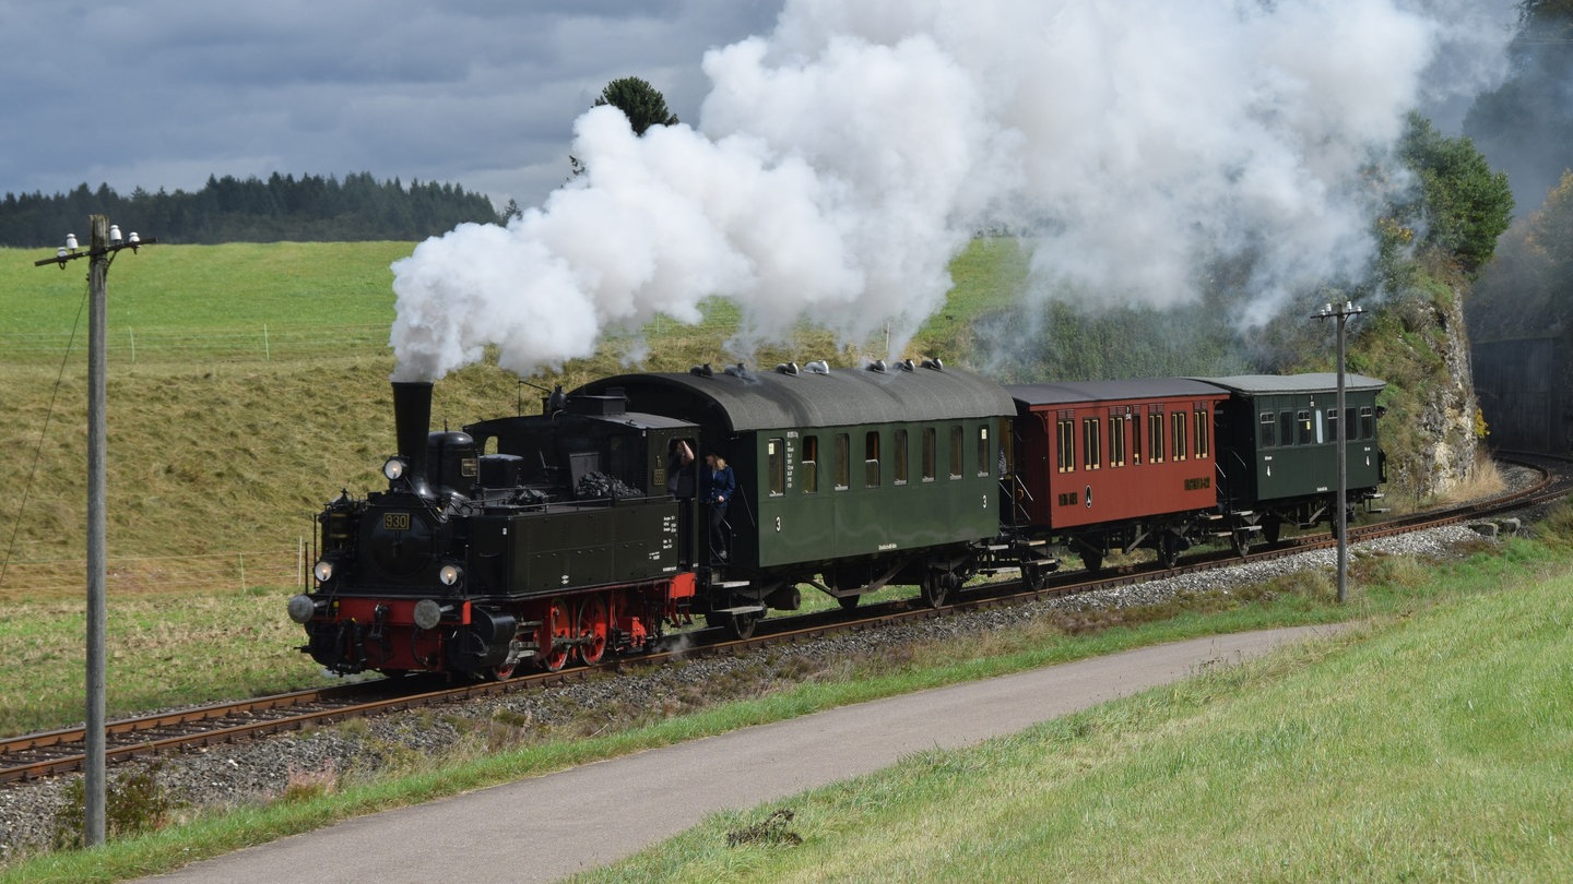
[[[1218,506],[1213,414],[1200,381],[1018,384],[1018,524],[1098,569],[1114,551],[1173,566]]]

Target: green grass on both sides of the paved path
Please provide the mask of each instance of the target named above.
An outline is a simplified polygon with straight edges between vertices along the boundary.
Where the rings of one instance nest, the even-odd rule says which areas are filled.
[[[1386,868],[1446,878],[1468,864],[1567,870],[1568,808],[1559,796],[1573,794],[1573,713],[1557,692],[1573,656],[1567,551],[1510,541],[1466,565],[1362,563],[1359,573],[1373,582],[1357,585],[1346,607],[1328,604],[1326,587],[1276,585],[1225,593],[1235,599],[1227,610],[1202,599],[1177,617],[1133,618],[1134,626],[1082,637],[1046,629],[991,637],[986,646],[922,648],[848,667],[835,681],[623,733],[208,813],[96,851],[19,864],[0,881],[134,878],[354,815],[845,703],[1180,637],[1351,615],[1387,626],[1364,643],[1224,670],[978,752],[925,753],[783,802],[798,815],[791,831],[804,837],[801,848],[725,846],[727,831],[763,808],[717,818],[596,879],[820,878],[827,864],[831,876],[900,870],[906,879],[1010,879],[1043,868],[1131,879],[1310,879]],[[1542,785],[1526,785],[1531,777]],[[1483,813],[1466,813],[1474,808]]]

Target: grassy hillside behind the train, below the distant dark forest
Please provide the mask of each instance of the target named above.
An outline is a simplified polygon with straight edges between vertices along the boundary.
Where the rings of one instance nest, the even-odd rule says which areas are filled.
[[[109,278],[109,709],[197,703],[321,681],[283,617],[311,516],[379,488],[392,453],[389,264],[411,244],[154,245]],[[0,733],[82,719],[87,499],[85,266],[0,250]],[[950,307],[914,354],[956,360],[967,318],[1022,275],[1010,242],[956,260]],[[662,322],[648,365],[728,362],[735,313]],[[72,340],[74,333],[74,340]],[[69,346],[69,349],[68,349]],[[535,382],[621,371],[626,341]],[[758,363],[829,357],[824,333]],[[495,366],[436,385],[434,422],[533,409]],[[310,565],[310,563],[307,563]]]

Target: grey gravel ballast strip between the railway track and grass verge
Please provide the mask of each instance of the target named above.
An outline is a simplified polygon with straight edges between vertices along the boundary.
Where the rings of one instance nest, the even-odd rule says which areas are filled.
[[[1452,554],[1461,543],[1479,543],[1480,536],[1468,527],[1447,527],[1384,538],[1359,544],[1357,549],[1435,558]],[[857,654],[915,642],[966,639],[1055,612],[1161,604],[1178,593],[1227,590],[1287,573],[1334,566],[1334,551],[1313,551],[1068,599],[971,612],[878,632],[832,635],[742,657],[692,659],[451,709],[403,713],[311,733],[209,747],[157,761],[157,782],[189,812],[234,807],[266,801],[291,788],[313,788],[346,774],[374,772],[415,757],[495,749],[541,731],[584,735],[584,730],[571,728],[584,728],[585,720],[659,719],[714,702],[717,695],[757,695],[769,689],[772,681],[796,683]],[[121,775],[120,769],[112,771],[112,788]],[[0,788],[0,860],[49,843],[66,782],[69,779]]]

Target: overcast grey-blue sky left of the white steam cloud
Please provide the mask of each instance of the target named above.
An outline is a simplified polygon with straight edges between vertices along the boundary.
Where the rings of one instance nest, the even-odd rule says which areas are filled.
[[[0,193],[370,171],[538,204],[637,76],[694,121],[706,49],[780,0],[0,0]]]

